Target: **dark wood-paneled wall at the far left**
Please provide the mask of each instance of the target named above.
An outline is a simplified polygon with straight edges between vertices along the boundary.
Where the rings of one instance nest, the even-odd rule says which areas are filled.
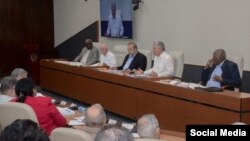
[[[30,71],[23,44],[39,44],[39,57],[54,50],[53,0],[0,1],[0,72]]]

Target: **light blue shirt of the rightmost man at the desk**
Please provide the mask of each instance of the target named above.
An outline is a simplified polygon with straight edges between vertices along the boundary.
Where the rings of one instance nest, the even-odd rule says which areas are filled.
[[[220,64],[218,64],[215,67],[214,71],[211,74],[211,77],[210,77],[209,81],[207,82],[207,85],[206,85],[207,87],[217,87],[217,88],[221,87],[220,82],[213,80],[213,78],[214,78],[215,75],[218,75],[218,76],[222,75],[221,66],[222,66],[223,63],[224,63],[224,61],[221,62]]]

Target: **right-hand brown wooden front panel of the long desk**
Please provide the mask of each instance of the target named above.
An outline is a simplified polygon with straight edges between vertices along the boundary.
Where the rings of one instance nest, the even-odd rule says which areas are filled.
[[[153,113],[161,128],[185,131],[187,124],[230,124],[240,120],[237,112],[227,111],[152,93],[139,93],[137,117]]]

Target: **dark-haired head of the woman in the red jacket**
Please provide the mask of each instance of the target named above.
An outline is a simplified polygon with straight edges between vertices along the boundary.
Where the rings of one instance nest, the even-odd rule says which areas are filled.
[[[18,97],[17,101],[24,103],[27,96],[35,96],[36,85],[32,79],[23,78],[17,82],[15,91]]]

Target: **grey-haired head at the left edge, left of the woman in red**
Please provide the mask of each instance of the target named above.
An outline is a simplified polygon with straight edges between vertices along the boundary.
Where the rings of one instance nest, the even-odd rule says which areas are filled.
[[[0,93],[6,94],[9,90],[14,89],[17,80],[11,76],[4,77],[0,82]]]

